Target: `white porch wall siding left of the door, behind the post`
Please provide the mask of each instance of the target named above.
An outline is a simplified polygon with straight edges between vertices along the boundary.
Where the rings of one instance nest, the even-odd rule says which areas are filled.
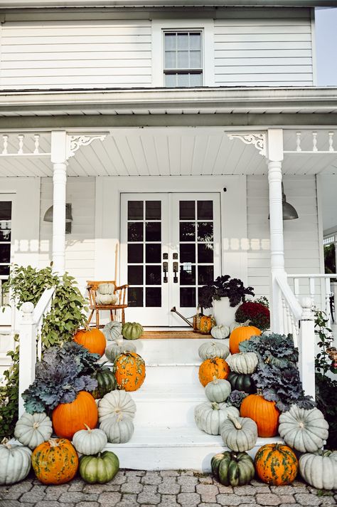
[[[72,231],[65,236],[65,269],[75,276],[80,290],[95,273],[95,178],[68,177],[67,202],[72,205]],[[51,261],[52,224],[43,221],[53,204],[53,180],[41,178],[40,265]]]

